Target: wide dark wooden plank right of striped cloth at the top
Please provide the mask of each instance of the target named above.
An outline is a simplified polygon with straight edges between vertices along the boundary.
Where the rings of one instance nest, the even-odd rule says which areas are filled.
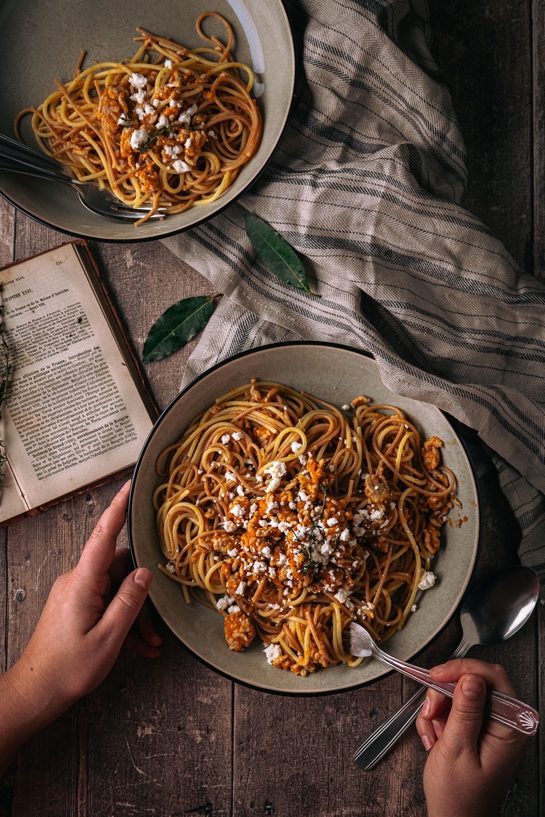
[[[529,0],[429,2],[431,51],[467,145],[469,180],[462,203],[532,273],[529,5]],[[543,21],[540,25],[536,40],[543,40]]]

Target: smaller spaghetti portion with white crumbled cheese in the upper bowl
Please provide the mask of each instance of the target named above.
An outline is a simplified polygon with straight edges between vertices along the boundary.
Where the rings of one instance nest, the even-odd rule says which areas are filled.
[[[226,26],[227,42],[208,37],[203,20]],[[233,30],[215,12],[197,20],[207,43],[194,51],[137,29],[136,54],[101,62],[60,83],[32,114],[44,153],[79,181],[108,188],[125,205],[150,205],[136,225],[161,208],[165,215],[212,203],[235,181],[261,140],[261,114],[250,96],[252,70],[231,54]]]

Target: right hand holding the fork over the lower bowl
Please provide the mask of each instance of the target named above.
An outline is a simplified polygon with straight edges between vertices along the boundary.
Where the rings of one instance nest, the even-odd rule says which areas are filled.
[[[516,697],[503,667],[458,659],[430,670],[457,683],[452,701],[427,690],[417,730],[429,752],[424,766],[428,817],[496,817],[525,751],[526,738],[483,719],[486,687]]]

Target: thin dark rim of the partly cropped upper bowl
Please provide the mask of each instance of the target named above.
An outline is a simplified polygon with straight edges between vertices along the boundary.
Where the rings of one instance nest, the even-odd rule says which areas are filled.
[[[292,118],[293,108],[294,108],[294,105],[295,105],[295,96],[296,96],[296,92],[297,92],[297,82],[298,82],[298,78],[299,78],[299,66],[298,66],[298,61],[297,61],[297,58],[298,58],[297,42],[296,42],[296,39],[295,39],[295,29],[293,28],[292,16],[288,11],[288,7],[286,6],[285,0],[277,0],[277,2],[279,4],[279,7],[281,8],[281,10],[284,12],[284,17],[286,19],[286,22],[288,23],[288,32],[289,32],[289,40],[290,40],[290,44],[291,44],[292,66],[293,66],[292,89],[291,89],[291,92],[290,92],[290,100],[289,100],[288,110],[287,110],[286,116],[284,118],[284,123],[283,123],[282,128],[281,128],[281,130],[279,132],[279,136],[278,136],[277,140],[275,141],[275,145],[273,145],[272,150],[270,151],[270,154],[267,156],[265,162],[262,164],[261,168],[257,171],[256,175],[252,178],[252,180],[248,181],[248,184],[244,185],[243,189],[240,190],[240,192],[237,193],[234,196],[233,199],[229,199],[229,201],[227,201],[225,204],[222,204],[220,208],[218,208],[214,212],[210,213],[209,216],[203,216],[202,218],[199,218],[198,221],[195,221],[194,224],[188,224],[185,227],[179,227],[179,228],[176,228],[176,230],[170,230],[169,232],[162,233],[160,235],[145,235],[145,236],[141,236],[141,237],[135,236],[134,238],[132,238],[127,234],[127,237],[123,237],[122,239],[113,239],[113,238],[104,238],[104,237],[98,238],[96,235],[89,235],[87,233],[74,233],[74,232],[70,232],[70,230],[65,230],[63,227],[58,227],[55,224],[51,224],[51,222],[47,221],[47,219],[42,218],[40,216],[37,216],[33,212],[29,212],[29,210],[25,209],[24,207],[21,207],[20,204],[17,204],[16,202],[12,201],[12,199],[10,199],[10,197],[7,195],[7,193],[5,193],[2,190],[1,186],[0,186],[0,198],[4,199],[4,201],[6,201],[8,204],[11,204],[12,208],[15,208],[19,212],[24,213],[25,216],[28,216],[33,221],[37,221],[38,224],[41,224],[44,227],[49,227],[50,230],[56,230],[57,233],[60,233],[62,235],[68,235],[69,237],[76,238],[76,239],[84,239],[86,241],[101,241],[103,243],[108,243],[108,244],[121,244],[121,243],[135,243],[136,244],[136,243],[142,243],[144,241],[161,241],[163,239],[170,239],[174,235],[180,235],[181,233],[187,232],[187,230],[194,230],[194,228],[200,227],[200,225],[206,224],[206,222],[210,221],[212,218],[216,218],[217,216],[219,216],[222,212],[224,212],[226,210],[226,208],[229,208],[231,206],[231,204],[235,204],[236,202],[239,201],[239,199],[244,194],[248,193],[248,190],[251,190],[252,186],[255,185],[256,182],[261,178],[262,174],[266,171],[266,168],[269,166],[270,162],[275,157],[276,151],[279,149],[280,143],[283,140],[284,134],[285,134],[285,132],[286,132],[286,130],[288,128],[289,121]],[[9,171],[2,171],[2,172],[9,172]]]

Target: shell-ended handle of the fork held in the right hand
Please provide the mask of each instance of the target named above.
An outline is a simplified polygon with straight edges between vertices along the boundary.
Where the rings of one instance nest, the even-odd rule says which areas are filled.
[[[434,681],[427,671],[421,667],[415,667],[414,664],[406,663],[400,659],[395,659],[392,655],[383,653],[375,646],[373,649],[373,656],[383,663],[394,667],[404,675],[413,678],[414,681],[420,681],[421,684],[430,686],[432,690],[437,690],[449,698],[453,697],[456,684],[444,684],[440,681]],[[504,695],[502,692],[495,690],[489,691],[487,715],[493,721],[503,723],[503,725],[510,726],[522,734],[532,735],[538,731],[539,714],[535,709],[529,707],[522,701],[517,701],[516,698],[511,698],[509,695]]]

